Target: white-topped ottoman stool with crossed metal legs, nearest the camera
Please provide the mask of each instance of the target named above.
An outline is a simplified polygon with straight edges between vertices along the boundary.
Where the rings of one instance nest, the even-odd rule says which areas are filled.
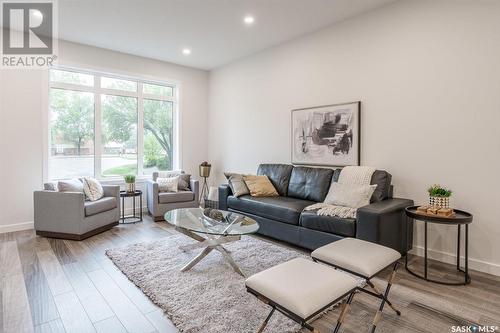
[[[338,332],[358,281],[343,272],[311,260],[296,258],[252,275],[245,281],[247,291],[271,306],[271,312],[257,332],[262,332],[275,310],[312,332],[307,322],[347,297],[334,332]]]

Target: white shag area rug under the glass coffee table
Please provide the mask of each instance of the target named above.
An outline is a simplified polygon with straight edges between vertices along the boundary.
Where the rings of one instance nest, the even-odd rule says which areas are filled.
[[[187,272],[180,269],[201,249],[183,252],[179,245],[194,242],[184,235],[107,250],[115,265],[181,332],[256,332],[270,311],[245,289],[245,278],[233,271],[218,251]],[[242,271],[250,276],[304,254],[243,236],[225,244]],[[275,312],[266,333],[297,332],[300,325]]]

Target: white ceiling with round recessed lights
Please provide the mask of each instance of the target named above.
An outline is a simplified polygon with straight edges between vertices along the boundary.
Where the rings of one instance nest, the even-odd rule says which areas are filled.
[[[59,38],[209,70],[390,2],[60,0]]]

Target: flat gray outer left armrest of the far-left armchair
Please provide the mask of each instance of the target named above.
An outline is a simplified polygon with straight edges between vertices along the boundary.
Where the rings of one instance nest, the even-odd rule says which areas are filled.
[[[85,218],[83,192],[35,191],[35,230],[62,233],[80,233]]]

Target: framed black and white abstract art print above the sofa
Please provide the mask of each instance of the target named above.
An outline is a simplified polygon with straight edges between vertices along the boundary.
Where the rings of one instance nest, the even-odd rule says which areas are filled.
[[[361,102],[292,110],[292,163],[359,165]]]

